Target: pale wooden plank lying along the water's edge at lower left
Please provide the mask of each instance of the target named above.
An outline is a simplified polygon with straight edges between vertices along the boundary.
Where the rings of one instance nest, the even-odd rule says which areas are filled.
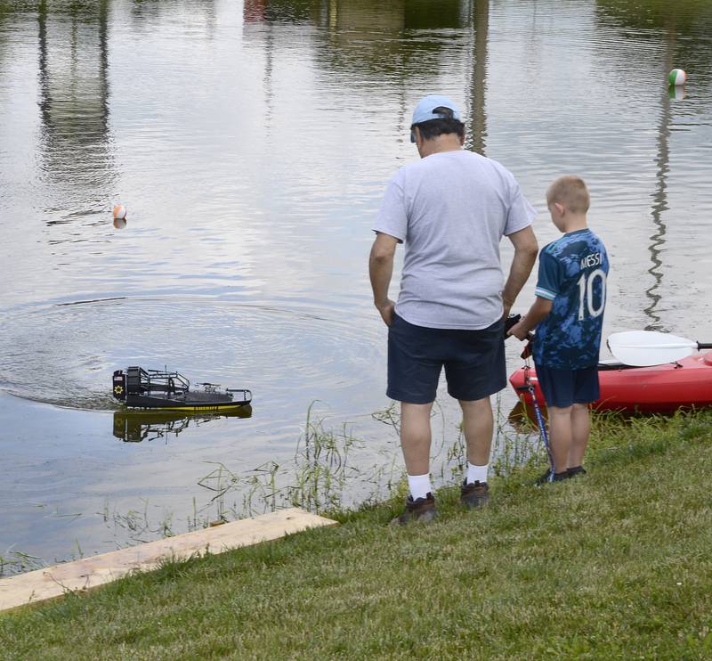
[[[59,597],[65,592],[88,590],[116,581],[132,571],[150,571],[158,567],[162,559],[222,553],[293,535],[307,528],[336,525],[337,522],[329,518],[291,508],[36,569],[0,579],[0,611]]]

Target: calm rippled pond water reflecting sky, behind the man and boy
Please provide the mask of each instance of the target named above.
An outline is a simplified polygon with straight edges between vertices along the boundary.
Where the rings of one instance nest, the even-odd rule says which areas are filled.
[[[214,462],[293,461],[315,400],[364,440],[360,468],[397,458],[371,418],[389,402],[367,261],[422,94],[452,96],[467,147],[540,211],[555,176],[587,180],[605,333],[708,340],[710,35],[701,0],[0,0],[0,555],[158,534],[128,512],[182,532]],[[556,237],[544,214],[536,231]],[[127,364],[250,388],[252,416],[117,418]]]

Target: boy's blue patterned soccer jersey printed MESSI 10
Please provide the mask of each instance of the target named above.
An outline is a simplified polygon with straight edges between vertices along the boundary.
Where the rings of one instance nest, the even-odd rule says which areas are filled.
[[[535,363],[554,370],[598,363],[607,276],[605,246],[591,230],[564,234],[541,250],[534,293],[554,306],[537,326]]]

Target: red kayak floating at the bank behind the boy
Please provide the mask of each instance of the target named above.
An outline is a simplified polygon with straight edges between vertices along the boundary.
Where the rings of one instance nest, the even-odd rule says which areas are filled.
[[[522,367],[509,377],[517,395],[531,405]],[[537,401],[543,404],[537,371],[529,370]],[[601,398],[594,404],[597,411],[673,412],[677,409],[712,406],[712,351],[683,358],[676,363],[652,367],[630,367],[623,363],[599,363],[598,378]]]

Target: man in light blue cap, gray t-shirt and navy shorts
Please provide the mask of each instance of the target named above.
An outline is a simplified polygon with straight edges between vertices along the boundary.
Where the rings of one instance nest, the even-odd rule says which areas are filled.
[[[506,386],[504,322],[527,281],[538,245],[536,212],[498,162],[463,150],[455,103],[425,96],[410,140],[420,160],[392,178],[376,219],[369,273],[374,304],[388,326],[388,389],[401,401],[401,448],[408,471],[406,509],[393,523],[436,516],[430,483],[430,413],[442,367],[462,407],[465,507],[488,500],[494,420],[490,395]],[[499,241],[514,245],[509,276]],[[388,298],[396,246],[405,243],[398,303]]]

